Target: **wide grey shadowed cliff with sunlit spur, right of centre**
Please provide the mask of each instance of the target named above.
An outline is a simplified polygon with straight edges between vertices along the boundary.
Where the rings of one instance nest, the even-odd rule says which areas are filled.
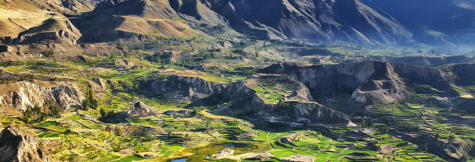
[[[297,67],[295,67],[297,66]],[[352,99],[365,103],[399,101],[404,97],[402,88],[406,85],[428,84],[440,90],[448,90],[442,71],[404,63],[365,61],[359,63],[332,65],[302,65],[278,63],[266,68],[274,72],[295,75],[310,89],[328,91],[337,87],[353,90]],[[298,69],[298,70],[297,70]]]

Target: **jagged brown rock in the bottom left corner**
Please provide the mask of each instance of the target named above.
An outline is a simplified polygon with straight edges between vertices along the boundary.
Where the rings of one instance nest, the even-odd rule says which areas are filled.
[[[36,139],[22,135],[13,126],[0,133],[0,162],[49,162]]]

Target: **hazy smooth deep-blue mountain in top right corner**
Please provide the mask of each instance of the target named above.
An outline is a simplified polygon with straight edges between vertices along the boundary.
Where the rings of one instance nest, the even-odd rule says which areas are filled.
[[[361,0],[380,8],[409,27],[419,41],[473,41],[473,0]]]

